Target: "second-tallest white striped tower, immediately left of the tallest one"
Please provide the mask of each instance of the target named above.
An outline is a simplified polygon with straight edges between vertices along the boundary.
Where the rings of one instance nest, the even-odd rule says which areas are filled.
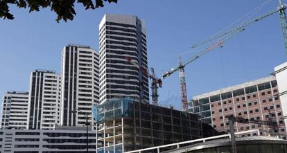
[[[91,108],[96,104],[98,53],[90,46],[69,44],[62,51],[62,125],[85,125],[85,114],[92,122]]]

